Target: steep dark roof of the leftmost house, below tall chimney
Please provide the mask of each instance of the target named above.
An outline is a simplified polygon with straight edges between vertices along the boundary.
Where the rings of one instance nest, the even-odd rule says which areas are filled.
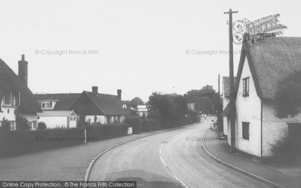
[[[21,112],[42,112],[35,95],[30,91],[25,82],[0,59],[0,93],[3,91],[20,92],[21,100],[19,110]],[[2,97],[0,101],[2,101]]]

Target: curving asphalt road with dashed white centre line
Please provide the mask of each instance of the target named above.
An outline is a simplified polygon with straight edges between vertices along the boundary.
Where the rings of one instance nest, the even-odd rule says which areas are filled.
[[[216,162],[202,149],[210,121],[115,147],[94,163],[89,180],[137,180],[137,187],[270,187]]]

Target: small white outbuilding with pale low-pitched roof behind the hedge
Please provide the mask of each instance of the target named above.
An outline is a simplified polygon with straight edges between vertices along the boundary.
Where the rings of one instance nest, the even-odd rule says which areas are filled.
[[[38,122],[45,122],[47,128],[74,128],[77,127],[78,116],[74,111],[43,111],[38,113]]]

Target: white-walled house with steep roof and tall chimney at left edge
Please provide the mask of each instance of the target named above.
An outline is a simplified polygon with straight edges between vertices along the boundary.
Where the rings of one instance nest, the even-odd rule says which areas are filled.
[[[25,55],[19,64],[19,76],[0,59],[0,120],[9,121],[11,130],[16,130],[16,114],[25,117],[34,130],[37,128],[38,112],[42,112],[34,94],[27,87],[28,62]]]

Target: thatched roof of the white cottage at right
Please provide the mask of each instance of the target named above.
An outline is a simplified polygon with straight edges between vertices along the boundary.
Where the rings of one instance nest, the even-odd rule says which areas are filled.
[[[256,92],[259,98],[274,99],[276,85],[293,71],[301,70],[301,38],[269,37],[259,42],[258,36],[244,35],[240,63],[236,79],[236,91],[245,57],[248,59]]]

